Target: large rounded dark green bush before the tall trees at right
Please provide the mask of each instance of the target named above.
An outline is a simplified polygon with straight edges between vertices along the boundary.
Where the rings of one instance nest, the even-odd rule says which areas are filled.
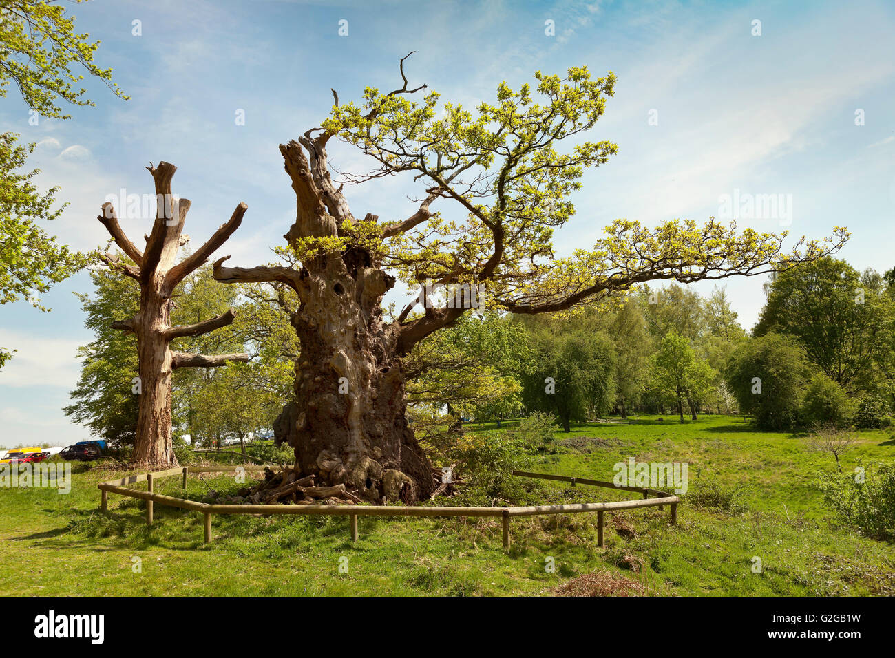
[[[784,430],[798,422],[809,374],[804,351],[773,333],[738,346],[724,371],[739,408],[763,430]]]

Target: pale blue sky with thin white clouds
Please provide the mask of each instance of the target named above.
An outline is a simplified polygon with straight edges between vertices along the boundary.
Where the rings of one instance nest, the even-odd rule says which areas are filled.
[[[105,244],[96,217],[108,194],[151,192],[143,168],[178,167],[175,193],[192,200],[194,243],[230,216],[243,226],[219,252],[234,265],[272,260],[294,218],[294,195],[277,144],[320,124],[332,104],[366,86],[399,86],[397,60],[442,99],[493,100],[499,81],[517,87],[534,71],[586,64],[618,75],[614,98],[589,136],[618,143],[618,155],[584,178],[576,217],[558,231],[557,252],[592,245],[615,218],[653,225],[719,215],[723,194],[783,194],[779,218],[741,226],[821,238],[853,232],[841,256],[858,269],[895,266],[895,5],[891,3],[645,2],[127,2],[71,5],[77,27],[102,40],[98,62],[132,98],[87,81],[97,107],[72,119],[29,124],[10,90],[0,130],[38,142],[39,182],[58,184],[64,216],[50,229],[80,249]],[[339,36],[339,21],[347,36]],[[761,36],[753,36],[753,21]],[[141,36],[132,34],[141,21]],[[553,21],[555,33],[545,33]],[[245,124],[235,113],[243,110]],[[658,124],[649,119],[658,117]],[[856,125],[856,111],[865,122]],[[654,123],[654,122],[653,122]],[[364,167],[348,147],[332,149],[342,169]],[[355,216],[404,218],[412,182],[355,187]],[[445,207],[445,210],[449,208]],[[781,223],[788,226],[780,226]],[[149,220],[123,220],[137,241]],[[763,303],[762,279],[729,279],[750,328]],[[697,286],[702,292],[712,285]],[[90,341],[72,291],[86,274],[41,302],[0,307],[0,345],[18,349],[0,370],[0,445],[88,438],[61,407],[77,380],[75,348]]]

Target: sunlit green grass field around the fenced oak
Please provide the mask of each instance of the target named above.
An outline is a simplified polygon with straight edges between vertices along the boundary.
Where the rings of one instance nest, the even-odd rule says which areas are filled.
[[[895,461],[891,430],[860,439],[843,468]],[[347,517],[213,517],[215,540],[204,544],[196,513],[156,505],[149,528],[142,501],[110,495],[109,513],[100,514],[96,485],[120,474],[79,464],[69,495],[0,490],[0,594],[553,594],[592,573],[653,595],[895,594],[895,545],[832,524],[813,484],[834,470],[832,457],[801,437],[707,416],[583,425],[556,441],[534,470],[611,480],[612,466],[628,457],[686,461],[691,491],[709,481],[739,486],[746,509],[696,507],[685,495],[678,526],[668,508],[607,514],[603,549],[596,515],[516,518],[507,552],[499,519],[361,517],[361,541],[352,543]],[[156,491],[180,496],[180,484],[166,479]],[[232,478],[194,477],[188,493],[228,486]],[[561,483],[545,487],[555,494],[545,503],[568,495]],[[630,497],[580,485],[575,495]]]

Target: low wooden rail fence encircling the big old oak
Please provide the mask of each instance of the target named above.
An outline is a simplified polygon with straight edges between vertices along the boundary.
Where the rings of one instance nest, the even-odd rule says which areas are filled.
[[[146,523],[152,524],[153,505],[166,505],[173,508],[181,508],[189,511],[200,512],[204,516],[205,543],[211,541],[211,517],[215,514],[252,514],[259,516],[287,515],[323,515],[332,517],[351,517],[351,539],[358,540],[357,517],[499,517],[503,526],[503,545],[509,548],[509,519],[512,517],[540,517],[553,514],[581,514],[586,512],[597,513],[597,545],[603,546],[603,515],[605,512],[614,512],[620,509],[635,509],[646,507],[662,508],[666,504],[671,506],[671,523],[678,522],[678,496],[673,496],[664,491],[646,489],[643,487],[617,487],[613,483],[600,480],[587,480],[584,478],[567,477],[566,475],[551,475],[543,473],[528,473],[514,471],[514,475],[521,477],[533,477],[541,480],[553,480],[556,482],[575,484],[590,484],[623,491],[637,491],[644,495],[643,500],[618,500],[616,502],[585,502],[567,505],[534,505],[528,507],[505,508],[473,508],[473,507],[436,507],[419,506],[405,507],[398,505],[218,505],[195,500],[185,500],[166,496],[153,491],[154,483],[166,477],[183,475],[183,489],[186,489],[187,480],[191,473],[233,473],[242,468],[244,471],[262,471],[265,468],[278,468],[278,466],[183,466],[171,468],[156,473],[130,475],[120,480],[111,480],[99,483],[100,508],[103,512],[108,509],[108,494],[117,493],[140,500],[146,500]],[[132,489],[126,485],[145,482],[147,491]],[[655,498],[650,498],[650,496]]]

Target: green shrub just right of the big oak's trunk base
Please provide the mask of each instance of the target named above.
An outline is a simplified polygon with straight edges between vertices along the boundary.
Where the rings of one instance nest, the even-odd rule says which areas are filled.
[[[532,463],[524,441],[510,432],[488,437],[467,434],[452,451],[456,473],[463,478],[458,504],[495,507],[539,500],[541,484],[517,477]]]

